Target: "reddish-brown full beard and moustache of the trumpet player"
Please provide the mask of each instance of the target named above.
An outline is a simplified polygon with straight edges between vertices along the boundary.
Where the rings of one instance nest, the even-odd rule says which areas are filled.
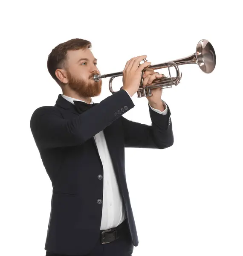
[[[93,76],[89,77],[89,81],[84,81],[83,79],[75,79],[68,71],[67,78],[69,87],[75,90],[82,97],[95,97],[101,94],[102,80],[98,82],[93,80]],[[98,74],[97,74],[98,75]]]

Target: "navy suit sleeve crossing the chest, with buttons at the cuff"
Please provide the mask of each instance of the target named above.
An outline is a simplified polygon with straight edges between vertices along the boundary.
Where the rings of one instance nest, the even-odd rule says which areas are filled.
[[[119,90],[72,119],[64,119],[61,111],[53,106],[37,108],[31,116],[30,128],[38,148],[80,145],[133,107],[127,92]],[[124,112],[118,114],[121,108]]]

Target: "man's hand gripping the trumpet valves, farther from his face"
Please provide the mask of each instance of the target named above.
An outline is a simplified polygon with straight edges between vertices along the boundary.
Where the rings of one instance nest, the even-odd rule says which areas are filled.
[[[154,79],[161,78],[161,77],[164,77],[164,75],[159,74],[158,72],[155,73],[153,69],[148,68],[143,75],[143,78],[144,78],[143,87],[145,88],[146,84],[151,84]],[[155,106],[155,107],[161,108],[161,105],[163,105],[161,101],[162,88],[161,87],[151,88],[151,93],[153,94],[153,96],[146,97],[151,107],[153,108],[153,106]]]

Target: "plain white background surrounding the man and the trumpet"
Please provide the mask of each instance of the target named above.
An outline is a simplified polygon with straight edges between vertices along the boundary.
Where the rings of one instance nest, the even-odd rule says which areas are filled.
[[[29,121],[36,108],[55,105],[62,93],[46,68],[49,52],[72,38],[89,40],[106,74],[122,71],[138,55],[152,64],[186,57],[207,39],[217,55],[214,72],[180,66],[180,84],[162,93],[174,145],[125,151],[139,236],[133,256],[242,256],[240,2],[8,1],[0,9],[0,254],[46,253],[52,184]],[[168,69],[158,71],[168,75]],[[94,102],[111,95],[108,81]],[[135,94],[133,102],[124,117],[150,125],[147,99]]]

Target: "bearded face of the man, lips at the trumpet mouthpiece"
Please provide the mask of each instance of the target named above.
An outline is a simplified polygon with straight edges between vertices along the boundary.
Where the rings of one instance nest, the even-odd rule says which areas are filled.
[[[102,80],[93,80],[95,74],[100,75],[96,66],[97,60],[90,49],[79,49],[67,52],[67,79],[69,87],[80,96],[95,97],[100,95]]]

